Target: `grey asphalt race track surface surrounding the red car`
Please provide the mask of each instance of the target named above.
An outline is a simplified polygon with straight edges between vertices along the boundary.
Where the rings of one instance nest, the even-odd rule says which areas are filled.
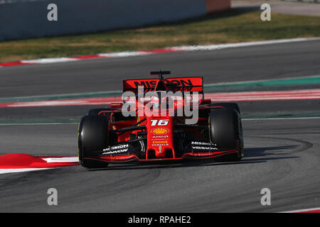
[[[144,57],[0,68],[0,97],[119,90],[122,79],[151,70],[201,74],[205,83],[320,74],[320,41]],[[308,87],[303,87],[307,89]],[[240,162],[80,166],[0,175],[0,212],[270,212],[320,207],[320,101],[240,102],[245,157]],[[0,119],[80,118],[95,106],[0,109]],[[265,119],[268,113],[288,116]],[[289,113],[289,114],[288,114]],[[78,125],[1,124],[0,154],[76,155]],[[58,190],[48,206],[47,190]],[[260,204],[271,190],[271,206]]]

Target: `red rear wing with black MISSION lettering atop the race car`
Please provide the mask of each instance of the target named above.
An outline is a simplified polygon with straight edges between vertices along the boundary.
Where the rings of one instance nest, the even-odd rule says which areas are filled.
[[[143,86],[144,92],[153,92],[161,79],[126,79],[123,81],[123,92],[138,93]],[[203,94],[203,77],[174,77],[163,79],[166,90],[172,92],[199,92]]]

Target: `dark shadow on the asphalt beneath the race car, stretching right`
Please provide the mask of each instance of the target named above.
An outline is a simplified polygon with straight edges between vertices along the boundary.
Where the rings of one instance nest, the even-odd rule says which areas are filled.
[[[217,162],[213,159],[210,160],[179,160],[179,161],[166,161],[166,162],[152,162],[152,163],[127,163],[127,164],[114,164],[107,168],[90,169],[89,171],[102,171],[102,170],[146,170],[146,169],[165,169],[165,168],[186,168],[186,167],[201,167],[211,165],[244,165],[256,164],[267,162],[270,160],[282,160],[295,158],[297,156],[287,156],[289,153],[282,153],[282,150],[294,149],[297,146],[277,146],[267,148],[245,148],[245,157],[238,162]],[[271,150],[278,150],[278,153],[270,153]],[[279,157],[278,155],[281,155]]]

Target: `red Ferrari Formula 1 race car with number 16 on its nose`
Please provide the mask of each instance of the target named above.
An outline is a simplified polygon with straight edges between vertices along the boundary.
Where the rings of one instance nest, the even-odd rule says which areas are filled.
[[[91,109],[78,129],[80,164],[243,157],[240,109],[204,99],[203,77],[123,81],[121,103]],[[184,111],[184,112],[183,112]],[[196,116],[196,119],[195,119]]]

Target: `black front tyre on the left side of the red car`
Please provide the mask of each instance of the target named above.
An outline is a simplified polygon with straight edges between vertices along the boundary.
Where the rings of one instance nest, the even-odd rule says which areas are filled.
[[[109,118],[100,116],[84,116],[79,124],[78,155],[80,164],[86,168],[107,167],[109,163],[98,160],[88,160],[94,157],[95,151],[107,148],[109,145]]]

